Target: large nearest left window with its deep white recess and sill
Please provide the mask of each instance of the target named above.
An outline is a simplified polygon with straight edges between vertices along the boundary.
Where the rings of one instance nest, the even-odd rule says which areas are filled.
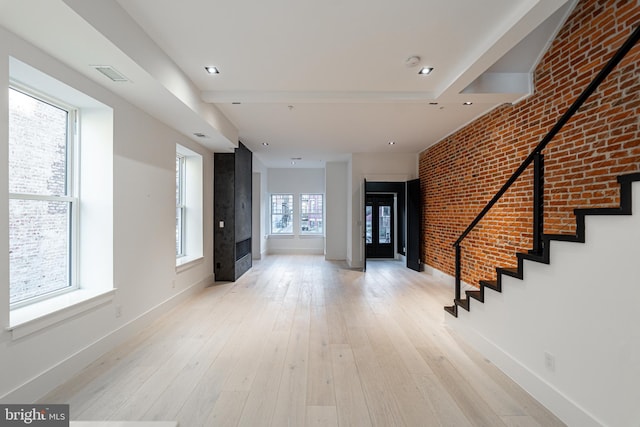
[[[16,58],[9,76],[8,328],[19,339],[113,298],[114,121]]]

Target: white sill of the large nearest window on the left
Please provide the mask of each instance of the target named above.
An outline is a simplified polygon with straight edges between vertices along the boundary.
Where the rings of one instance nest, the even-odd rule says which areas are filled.
[[[48,328],[113,299],[116,289],[78,289],[54,298],[11,310],[9,327],[12,339]]]

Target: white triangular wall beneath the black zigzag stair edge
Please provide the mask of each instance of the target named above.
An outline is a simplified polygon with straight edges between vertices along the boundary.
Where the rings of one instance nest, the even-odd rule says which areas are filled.
[[[640,183],[633,216],[588,216],[585,243],[446,315],[449,326],[570,426],[638,426]]]

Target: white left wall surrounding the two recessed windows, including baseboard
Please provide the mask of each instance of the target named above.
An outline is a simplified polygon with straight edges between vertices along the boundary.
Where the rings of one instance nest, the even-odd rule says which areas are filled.
[[[7,87],[13,56],[114,112],[112,302],[14,339],[9,326]],[[213,156],[102,86],[0,28],[0,400],[29,402],[213,281]],[[175,148],[204,158],[204,258],[175,268]],[[101,242],[93,242],[100,245]],[[116,317],[116,307],[122,315]]]

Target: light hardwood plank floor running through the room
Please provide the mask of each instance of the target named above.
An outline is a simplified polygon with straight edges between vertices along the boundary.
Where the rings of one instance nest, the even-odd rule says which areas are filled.
[[[269,256],[42,401],[72,420],[181,427],[563,425],[445,327],[448,286],[367,267]]]

